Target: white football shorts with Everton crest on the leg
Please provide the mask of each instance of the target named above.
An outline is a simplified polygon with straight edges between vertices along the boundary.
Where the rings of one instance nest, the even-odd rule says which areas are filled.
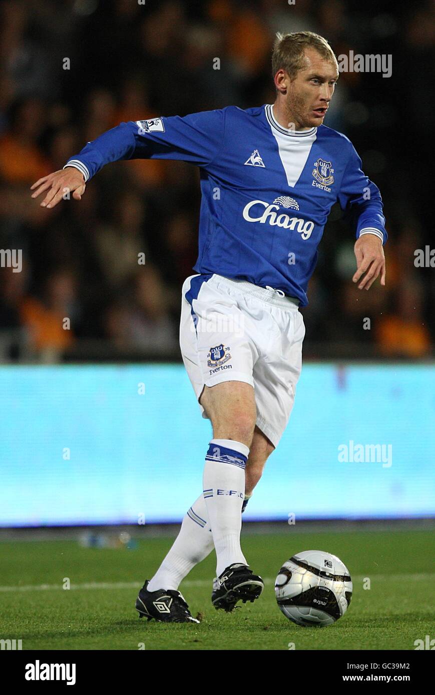
[[[196,398],[204,385],[251,384],[256,424],[275,447],[301,373],[305,326],[298,304],[280,290],[216,274],[191,275],[182,287],[180,347]]]

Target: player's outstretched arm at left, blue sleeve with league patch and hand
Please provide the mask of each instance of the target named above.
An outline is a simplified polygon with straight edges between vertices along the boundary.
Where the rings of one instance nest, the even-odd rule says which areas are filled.
[[[180,159],[207,167],[222,147],[224,129],[225,110],[221,109],[120,123],[88,142],[63,169],[33,183],[32,197],[45,193],[41,206],[47,208],[53,208],[67,192],[80,200],[86,182],[106,164],[121,159]]]

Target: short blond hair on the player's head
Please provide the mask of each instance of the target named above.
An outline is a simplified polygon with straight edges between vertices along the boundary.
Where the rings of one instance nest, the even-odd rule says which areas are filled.
[[[307,47],[315,49],[322,58],[338,65],[333,49],[323,36],[313,31],[277,33],[272,53],[272,76],[282,69],[287,72],[290,79],[294,79],[299,70],[304,67],[303,53]]]

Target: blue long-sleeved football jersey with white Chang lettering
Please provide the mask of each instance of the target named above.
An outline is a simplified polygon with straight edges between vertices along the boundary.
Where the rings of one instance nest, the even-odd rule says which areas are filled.
[[[386,242],[379,189],[350,140],[324,125],[283,128],[271,104],[121,123],[65,166],[88,181],[120,159],[180,159],[200,167],[199,253],[193,270],[271,286],[301,305],[331,207],[356,238]]]

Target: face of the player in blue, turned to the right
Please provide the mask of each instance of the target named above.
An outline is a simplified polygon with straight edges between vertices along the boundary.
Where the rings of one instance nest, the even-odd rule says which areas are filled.
[[[293,80],[287,77],[286,106],[296,130],[322,125],[338,80],[335,63],[306,49],[306,67]]]

